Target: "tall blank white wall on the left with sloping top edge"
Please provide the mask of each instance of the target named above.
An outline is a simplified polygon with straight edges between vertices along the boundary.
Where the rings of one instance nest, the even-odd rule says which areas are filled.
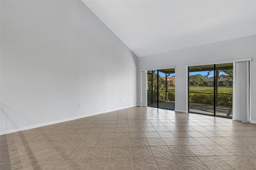
[[[137,104],[138,57],[81,1],[1,1],[0,55],[1,134]]]

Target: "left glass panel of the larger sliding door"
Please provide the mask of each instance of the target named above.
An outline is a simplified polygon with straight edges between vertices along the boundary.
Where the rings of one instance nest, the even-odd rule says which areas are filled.
[[[214,115],[214,65],[189,67],[189,112]]]

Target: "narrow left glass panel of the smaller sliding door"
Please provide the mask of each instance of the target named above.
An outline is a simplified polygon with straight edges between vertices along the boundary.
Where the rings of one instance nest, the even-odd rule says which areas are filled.
[[[148,71],[148,106],[157,107],[157,71]]]

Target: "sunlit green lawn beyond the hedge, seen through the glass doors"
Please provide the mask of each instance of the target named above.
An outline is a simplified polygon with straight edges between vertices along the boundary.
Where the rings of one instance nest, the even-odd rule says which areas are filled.
[[[174,91],[174,86],[169,86],[168,91]],[[213,87],[211,86],[189,86],[190,92],[212,92],[213,93]],[[218,87],[218,93],[230,93],[232,94],[233,88],[232,87]]]

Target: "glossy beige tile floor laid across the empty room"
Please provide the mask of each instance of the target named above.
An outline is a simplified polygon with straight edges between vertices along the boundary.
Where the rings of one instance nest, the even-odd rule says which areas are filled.
[[[0,136],[0,169],[255,170],[256,125],[132,107]]]

